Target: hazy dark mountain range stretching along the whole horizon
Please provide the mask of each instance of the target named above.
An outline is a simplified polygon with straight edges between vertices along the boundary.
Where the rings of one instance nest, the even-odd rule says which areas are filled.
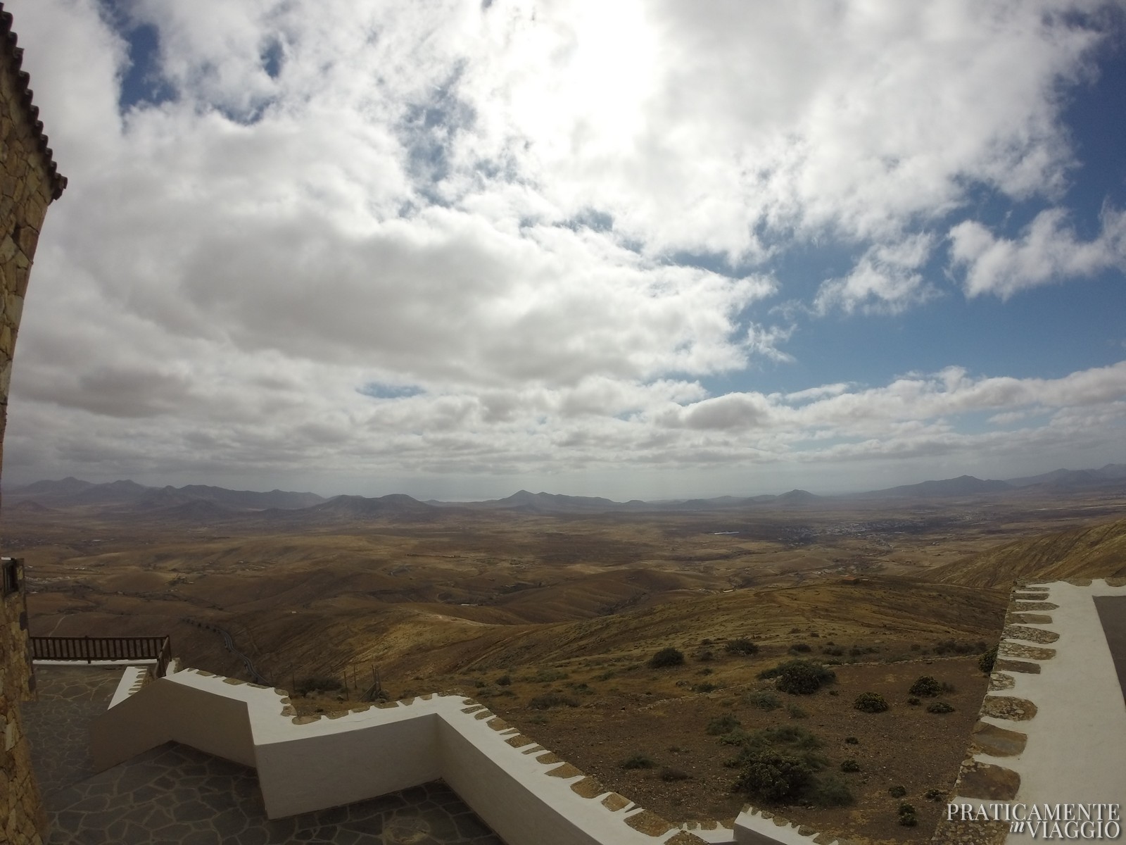
[[[959,475],[918,484],[902,484],[847,496],[823,497],[806,490],[790,490],[780,496],[718,496],[711,499],[677,499],[668,501],[614,501],[596,496],[564,496],[518,490],[503,499],[448,502],[419,501],[403,493],[368,498],[334,496],[325,499],[312,492],[270,490],[227,490],[223,487],[187,484],[185,487],[145,487],[134,481],[111,481],[96,484],[77,478],[60,481],[36,481],[34,484],[3,492],[5,507],[25,515],[51,515],[63,508],[92,508],[98,513],[120,516],[152,516],[171,521],[211,522],[259,514],[263,518],[287,523],[333,523],[394,518],[420,521],[437,518],[450,509],[508,510],[529,514],[598,514],[668,510],[727,510],[769,505],[802,508],[826,500],[856,499],[930,499],[990,496],[1004,492],[1071,492],[1083,490],[1126,491],[1126,464],[1107,464],[1098,470],[1055,470],[1040,475],[982,480]]]

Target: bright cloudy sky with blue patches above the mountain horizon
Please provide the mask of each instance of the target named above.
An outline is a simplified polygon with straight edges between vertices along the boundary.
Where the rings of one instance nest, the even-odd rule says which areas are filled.
[[[1126,3],[8,0],[69,180],[6,486],[1126,462]]]

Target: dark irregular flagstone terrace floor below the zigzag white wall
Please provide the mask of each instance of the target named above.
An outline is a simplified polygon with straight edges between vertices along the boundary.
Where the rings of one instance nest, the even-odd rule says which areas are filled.
[[[503,845],[444,783],[267,819],[254,770],[167,744],[95,774],[89,723],[122,670],[36,668],[23,705],[51,818],[51,845]],[[298,773],[300,776],[300,773]]]

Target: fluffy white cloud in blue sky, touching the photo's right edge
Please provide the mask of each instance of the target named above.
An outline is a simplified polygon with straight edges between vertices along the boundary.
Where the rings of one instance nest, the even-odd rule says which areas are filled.
[[[1037,214],[1017,240],[998,238],[967,220],[950,230],[950,241],[953,264],[965,268],[971,297],[1007,300],[1030,287],[1126,270],[1126,213],[1114,208],[1103,208],[1101,230],[1090,241],[1080,240],[1062,208]]]

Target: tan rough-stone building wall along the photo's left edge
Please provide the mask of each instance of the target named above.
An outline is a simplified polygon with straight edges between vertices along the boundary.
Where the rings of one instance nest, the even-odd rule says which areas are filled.
[[[16,332],[24,311],[32,259],[47,206],[66,187],[52,161],[28,75],[20,70],[11,15],[0,3],[0,464],[8,420],[8,385]],[[0,840],[39,845],[46,815],[32,772],[30,750],[17,704],[34,694],[23,589],[0,597]]]

